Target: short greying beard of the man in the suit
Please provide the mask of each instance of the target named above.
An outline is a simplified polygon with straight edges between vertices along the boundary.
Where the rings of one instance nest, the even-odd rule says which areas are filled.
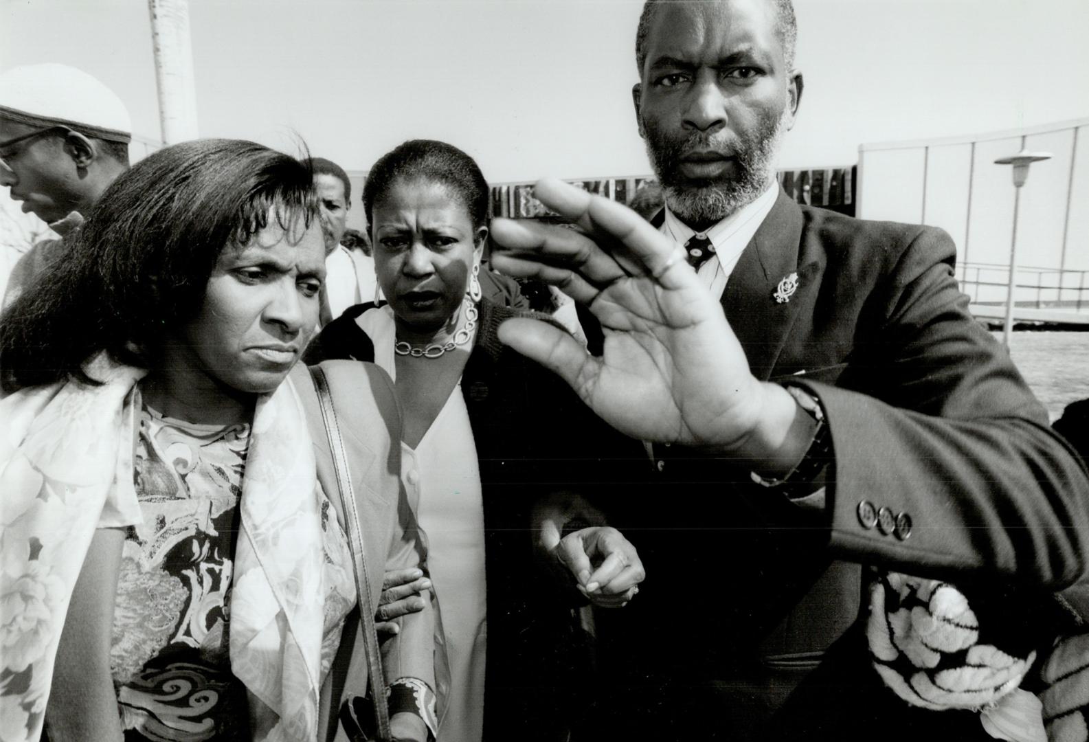
[[[670,179],[662,177],[664,163],[654,156],[650,138],[645,138],[647,157],[654,166],[658,181],[662,183],[665,205],[670,210],[689,224],[710,223],[721,221],[756,200],[775,178],[775,154],[786,133],[783,125],[785,113],[756,146],[737,151],[741,172],[737,178],[721,183],[702,186],[669,183]]]

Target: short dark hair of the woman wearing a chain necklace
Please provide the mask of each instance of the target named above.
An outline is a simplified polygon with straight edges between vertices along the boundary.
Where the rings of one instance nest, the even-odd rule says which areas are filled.
[[[412,139],[378,158],[367,173],[363,209],[368,224],[375,223],[375,202],[401,180],[442,183],[462,199],[474,229],[488,223],[488,181],[476,160],[445,142]]]

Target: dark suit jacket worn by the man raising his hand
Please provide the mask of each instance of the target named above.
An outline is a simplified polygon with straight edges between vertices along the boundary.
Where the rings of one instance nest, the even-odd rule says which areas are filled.
[[[650,671],[633,674],[658,672],[674,688],[678,678],[715,683],[710,731],[678,738],[730,729],[731,739],[763,739],[755,720],[854,623],[860,565],[1031,595],[1086,571],[1086,474],[1006,351],[969,315],[954,258],[941,230],[802,207],[784,193],[742,254],[722,299],[726,317],[758,378],[820,400],[834,466],[825,508],[815,512],[751,484],[744,466],[656,447],[653,481],[610,509],[648,574],[624,609],[626,625],[610,629],[631,630],[631,645],[680,623],[685,645],[698,648],[657,653]],[[797,291],[776,303],[792,272]],[[909,532],[874,527],[871,507],[894,520],[903,513]],[[865,645],[843,642],[854,671],[824,690],[842,701],[880,689],[858,661]],[[654,697],[653,688],[643,691]],[[698,713],[669,697],[660,714],[671,705]],[[792,711],[843,713],[834,693],[820,697],[823,708]],[[825,731],[835,739],[842,727]]]

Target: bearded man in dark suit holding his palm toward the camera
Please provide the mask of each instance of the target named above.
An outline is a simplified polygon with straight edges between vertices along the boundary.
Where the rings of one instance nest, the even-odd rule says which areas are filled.
[[[653,481],[605,507],[648,574],[608,627],[631,658],[612,733],[991,739],[971,711],[883,686],[858,620],[867,577],[1043,600],[1086,571],[1089,482],[969,315],[947,234],[778,187],[795,28],[788,0],[647,2],[633,98],[664,210],[650,226],[544,181],[537,196],[579,231],[492,224],[495,268],[588,306],[603,352],[528,319],[500,337],[651,452]],[[577,543],[542,546],[579,573]],[[1018,635],[1044,636],[1044,612]]]

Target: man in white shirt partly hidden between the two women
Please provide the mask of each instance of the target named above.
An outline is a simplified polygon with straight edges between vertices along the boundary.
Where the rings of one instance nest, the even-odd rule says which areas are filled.
[[[311,157],[306,163],[314,172],[321,231],[326,238],[326,283],[321,301],[321,325],[325,326],[360,301],[355,261],[341,244],[352,204],[352,182],[344,169],[332,160]]]

